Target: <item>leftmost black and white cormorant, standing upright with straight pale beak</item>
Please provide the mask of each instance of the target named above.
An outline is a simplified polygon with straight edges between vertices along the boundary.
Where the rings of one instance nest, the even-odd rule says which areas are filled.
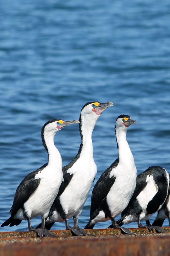
[[[78,120],[64,121],[55,119],[44,124],[41,132],[43,146],[48,153],[48,163],[38,170],[29,173],[19,184],[10,210],[11,217],[1,227],[19,225],[22,220],[27,220],[28,229],[36,231],[39,237],[52,236],[45,229],[45,219],[50,207],[58,194],[59,187],[63,181],[62,159],[58,149],[54,145],[56,132],[63,127],[79,123]],[[30,220],[41,215],[42,226],[35,229]]]

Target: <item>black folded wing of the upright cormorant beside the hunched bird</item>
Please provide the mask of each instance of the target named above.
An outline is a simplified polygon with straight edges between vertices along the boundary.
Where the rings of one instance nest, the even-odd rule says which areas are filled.
[[[112,178],[109,178],[110,172],[113,168],[115,168],[119,163],[119,158],[114,161],[113,164],[105,172],[102,173],[100,178],[97,180],[91,196],[91,208],[90,208],[90,216],[93,214],[93,212],[97,209],[99,204],[102,202],[102,200],[107,196],[107,194],[110,191],[110,188],[112,187],[116,177],[112,176]]]

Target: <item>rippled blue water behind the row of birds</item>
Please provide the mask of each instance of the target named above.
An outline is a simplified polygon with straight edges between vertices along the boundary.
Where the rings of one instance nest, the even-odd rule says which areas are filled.
[[[10,216],[20,181],[47,161],[43,124],[77,119],[89,101],[114,102],[93,132],[95,182],[117,158],[120,114],[137,120],[127,139],[138,174],[152,165],[170,172],[169,19],[169,0],[1,1],[0,223]],[[79,148],[78,125],[56,134],[55,143],[66,165]],[[90,197],[79,218],[82,228]],[[27,222],[0,231],[12,230],[27,230]]]

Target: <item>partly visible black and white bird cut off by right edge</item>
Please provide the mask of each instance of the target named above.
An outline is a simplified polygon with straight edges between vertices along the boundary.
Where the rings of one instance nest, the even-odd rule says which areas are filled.
[[[169,177],[170,177],[170,174],[169,174]],[[170,226],[170,185],[169,185],[168,195],[166,197],[165,203],[158,211],[157,217],[152,223],[152,225],[162,227],[164,220],[166,218],[168,218],[169,226]]]

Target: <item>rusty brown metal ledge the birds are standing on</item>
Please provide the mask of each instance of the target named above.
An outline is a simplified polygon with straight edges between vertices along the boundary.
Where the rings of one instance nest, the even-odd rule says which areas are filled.
[[[92,229],[87,230],[90,236],[84,237],[72,236],[69,230],[53,230],[57,237],[43,238],[35,232],[2,232],[0,256],[169,256],[170,228],[164,229],[167,233],[157,234],[131,228],[137,236],[122,235],[118,229]]]

